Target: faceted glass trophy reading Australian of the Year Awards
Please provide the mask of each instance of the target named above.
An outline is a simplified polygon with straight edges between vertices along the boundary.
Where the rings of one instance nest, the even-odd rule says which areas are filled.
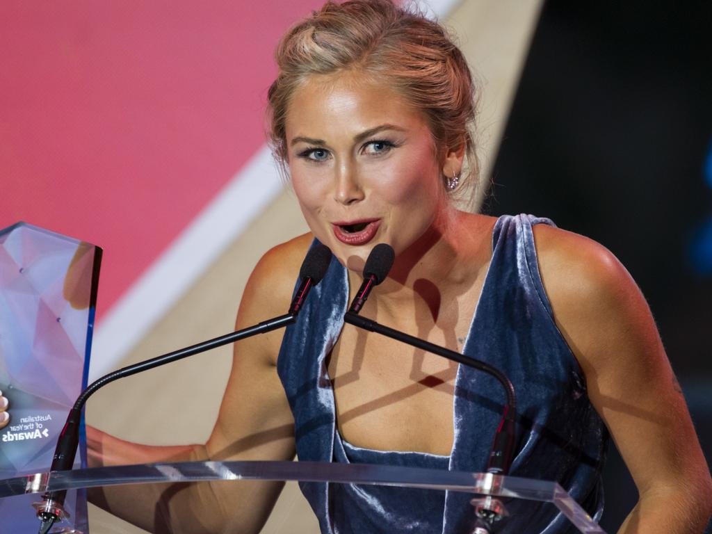
[[[0,479],[47,471],[69,409],[86,387],[101,248],[36,226],[0,230]],[[83,434],[83,431],[82,431]],[[86,466],[86,444],[74,467]],[[0,499],[0,530],[33,532],[37,496]],[[53,532],[88,533],[85,491],[66,497]]]

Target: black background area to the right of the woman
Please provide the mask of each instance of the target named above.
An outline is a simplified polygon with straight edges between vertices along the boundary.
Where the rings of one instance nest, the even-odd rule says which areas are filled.
[[[646,296],[712,459],[712,2],[545,2],[485,213],[607,246]],[[602,527],[637,491],[611,445]]]

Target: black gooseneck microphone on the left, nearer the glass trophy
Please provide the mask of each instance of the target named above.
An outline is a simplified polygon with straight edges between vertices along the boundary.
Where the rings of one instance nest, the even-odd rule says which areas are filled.
[[[138,372],[147,371],[167,363],[175,362],[176,360],[181,360],[184,357],[192,356],[198,354],[199,352],[205,352],[206,350],[214,349],[216,347],[221,347],[222,345],[227,345],[246,337],[268,333],[272,330],[276,330],[277,328],[282,328],[286,325],[294,323],[295,320],[297,320],[297,315],[300,312],[309,291],[326,275],[330,261],[331,251],[329,248],[321,244],[319,241],[316,241],[304,258],[302,266],[299,270],[301,283],[295,293],[292,303],[289,306],[289,310],[285,315],[280,315],[279,317],[262,321],[257,325],[197,343],[197,345],[168,352],[167,354],[157,356],[151,360],[145,360],[144,362],[123,367],[120,370],[110,372],[108,375],[95,380],[95,382],[90,384],[89,387],[81,392],[79,397],[77,397],[74,406],[69,411],[67,421],[64,424],[57,441],[50,471],[69,471],[72,468],[77,446],[79,444],[79,427],[83,407],[87,402],[87,399],[94,392],[114,380],[135,375]],[[52,525],[66,515],[66,511],[63,506],[65,497],[66,491],[51,491],[43,495],[43,501],[41,503],[35,503],[33,505],[37,510],[37,517],[41,522],[39,534],[48,533],[49,529],[52,528]]]

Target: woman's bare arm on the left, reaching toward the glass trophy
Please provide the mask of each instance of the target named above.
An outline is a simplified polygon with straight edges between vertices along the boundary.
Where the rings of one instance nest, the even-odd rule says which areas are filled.
[[[288,309],[308,238],[268,252],[246,286],[236,328]],[[219,416],[206,444],[156,447],[88,432],[90,465],[155,461],[290,460],[293,419],[276,372],[282,330],[236,343]],[[163,533],[257,533],[282,483],[198,483],[127,486],[96,491],[92,501],[145,528]]]

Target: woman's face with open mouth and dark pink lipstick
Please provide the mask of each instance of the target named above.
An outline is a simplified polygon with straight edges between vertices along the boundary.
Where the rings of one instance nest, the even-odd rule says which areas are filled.
[[[286,142],[305,219],[347,268],[361,271],[379,243],[399,254],[446,209],[425,117],[387,85],[310,78],[290,101]]]

